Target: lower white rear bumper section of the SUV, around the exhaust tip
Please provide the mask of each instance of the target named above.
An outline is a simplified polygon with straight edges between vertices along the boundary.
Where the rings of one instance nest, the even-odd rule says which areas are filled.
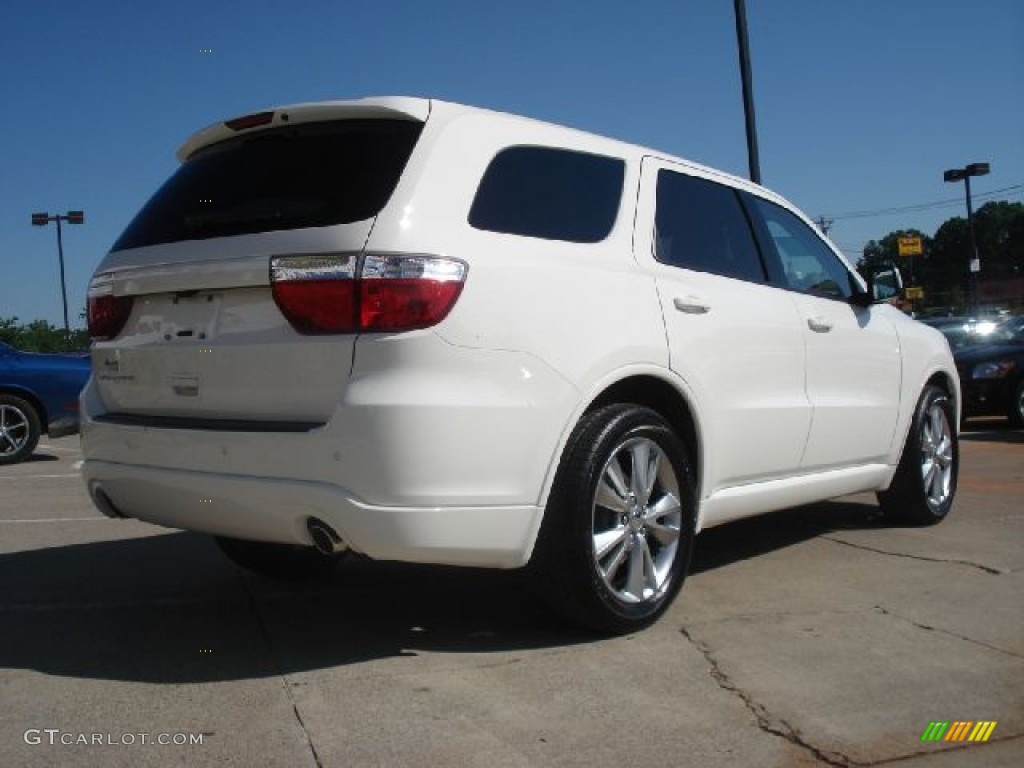
[[[383,507],[329,483],[85,461],[105,514],[217,536],[312,545],[310,517],[380,560],[514,568],[526,563],[537,506]]]

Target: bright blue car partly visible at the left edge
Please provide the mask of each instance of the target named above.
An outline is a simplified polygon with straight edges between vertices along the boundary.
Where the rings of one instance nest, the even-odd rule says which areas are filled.
[[[86,355],[23,352],[0,342],[0,464],[29,457],[43,432],[77,432],[78,395],[88,379]]]

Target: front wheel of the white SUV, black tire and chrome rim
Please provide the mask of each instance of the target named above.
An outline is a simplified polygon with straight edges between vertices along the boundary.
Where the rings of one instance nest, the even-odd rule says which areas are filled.
[[[896,475],[889,489],[879,494],[887,515],[913,525],[934,525],[949,514],[959,469],[955,423],[949,395],[938,387],[926,386]]]

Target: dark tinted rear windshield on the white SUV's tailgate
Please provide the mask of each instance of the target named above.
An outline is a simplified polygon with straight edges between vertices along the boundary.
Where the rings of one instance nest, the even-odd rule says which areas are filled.
[[[371,218],[422,129],[407,120],[342,120],[213,144],[178,168],[113,250]]]

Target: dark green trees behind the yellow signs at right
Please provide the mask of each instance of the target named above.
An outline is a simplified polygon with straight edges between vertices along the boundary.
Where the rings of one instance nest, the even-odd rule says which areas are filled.
[[[1024,203],[986,203],[974,213],[981,271],[978,280],[1024,279]],[[921,238],[924,254],[900,256],[900,238]],[[920,229],[897,229],[864,246],[863,265],[893,262],[906,285],[925,289],[925,307],[964,311],[967,302],[971,240],[967,219],[946,219],[929,237]],[[1015,302],[1024,304],[1024,297]]]

